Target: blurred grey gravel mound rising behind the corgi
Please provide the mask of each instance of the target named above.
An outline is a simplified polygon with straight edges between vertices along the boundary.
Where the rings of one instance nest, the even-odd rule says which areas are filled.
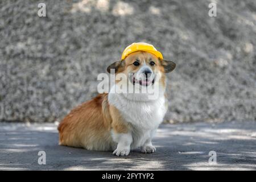
[[[256,120],[256,1],[0,1],[0,120],[54,122],[133,42],[176,62],[167,122]]]

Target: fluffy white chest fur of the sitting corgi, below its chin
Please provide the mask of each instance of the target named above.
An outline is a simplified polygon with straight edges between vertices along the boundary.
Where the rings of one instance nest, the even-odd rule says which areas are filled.
[[[141,147],[148,138],[152,138],[167,111],[166,98],[163,95],[155,100],[144,100],[143,97],[146,96],[142,94],[124,96],[118,93],[110,93],[108,97],[109,104],[115,106],[125,121],[132,126],[131,148]],[[117,136],[113,135],[113,137],[114,140],[118,140],[115,139]]]

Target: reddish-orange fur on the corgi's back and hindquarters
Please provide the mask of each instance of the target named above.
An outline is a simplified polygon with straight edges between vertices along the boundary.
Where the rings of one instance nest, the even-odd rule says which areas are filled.
[[[88,150],[112,150],[109,106],[105,107],[105,114],[102,111],[102,102],[107,97],[108,94],[99,94],[93,100],[73,109],[58,127],[59,143],[65,146],[84,147]],[[103,142],[109,143],[109,148],[101,148],[98,143]]]

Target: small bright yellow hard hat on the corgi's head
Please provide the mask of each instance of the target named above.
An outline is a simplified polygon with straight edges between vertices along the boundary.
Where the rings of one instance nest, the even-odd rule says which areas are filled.
[[[150,52],[156,57],[163,59],[162,53],[156,50],[154,46],[152,46],[151,44],[143,43],[143,42],[132,43],[130,46],[127,46],[122,53],[121,59],[124,60],[130,53],[133,53],[136,51]]]

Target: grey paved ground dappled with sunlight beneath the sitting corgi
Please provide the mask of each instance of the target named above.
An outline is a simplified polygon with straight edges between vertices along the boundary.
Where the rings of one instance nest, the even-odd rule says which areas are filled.
[[[0,123],[0,170],[255,170],[256,123],[161,125],[154,154],[87,151],[58,145],[56,125]],[[38,152],[46,152],[46,165]],[[209,163],[210,151],[217,164]]]

